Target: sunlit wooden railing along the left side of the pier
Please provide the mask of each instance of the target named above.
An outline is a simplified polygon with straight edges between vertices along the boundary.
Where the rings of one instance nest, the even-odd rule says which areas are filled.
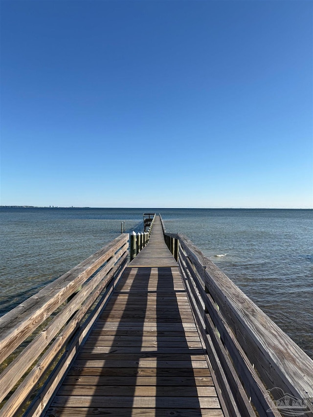
[[[0,363],[10,362],[0,374],[1,417],[41,415],[127,265],[128,240],[121,234],[0,318]]]

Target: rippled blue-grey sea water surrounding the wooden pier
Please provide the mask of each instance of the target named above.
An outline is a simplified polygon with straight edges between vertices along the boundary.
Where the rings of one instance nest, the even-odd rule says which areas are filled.
[[[120,232],[144,211],[188,236],[313,357],[313,211],[0,208],[0,315]]]

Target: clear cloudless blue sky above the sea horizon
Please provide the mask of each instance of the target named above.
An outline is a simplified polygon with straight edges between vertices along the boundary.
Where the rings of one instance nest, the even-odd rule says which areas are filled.
[[[1,1],[2,205],[313,206],[312,1]]]

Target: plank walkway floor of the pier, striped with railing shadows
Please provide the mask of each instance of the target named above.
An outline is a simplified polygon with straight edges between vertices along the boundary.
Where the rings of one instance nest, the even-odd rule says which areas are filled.
[[[97,415],[223,416],[158,216],[45,414]]]

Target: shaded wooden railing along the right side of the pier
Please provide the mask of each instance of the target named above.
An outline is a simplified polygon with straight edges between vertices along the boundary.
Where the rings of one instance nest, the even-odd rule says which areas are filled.
[[[177,254],[225,414],[312,417],[313,360],[188,238],[162,226]]]

